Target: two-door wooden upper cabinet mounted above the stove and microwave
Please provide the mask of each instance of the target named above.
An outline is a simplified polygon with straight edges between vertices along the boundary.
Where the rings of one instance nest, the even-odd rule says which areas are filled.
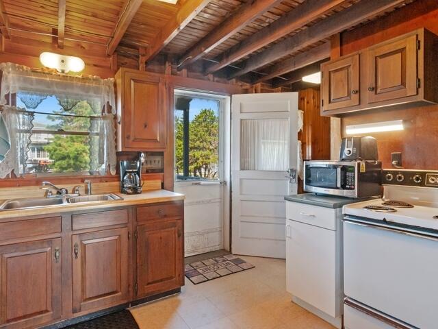
[[[438,103],[437,51],[438,36],[417,29],[322,64],[321,114]]]

